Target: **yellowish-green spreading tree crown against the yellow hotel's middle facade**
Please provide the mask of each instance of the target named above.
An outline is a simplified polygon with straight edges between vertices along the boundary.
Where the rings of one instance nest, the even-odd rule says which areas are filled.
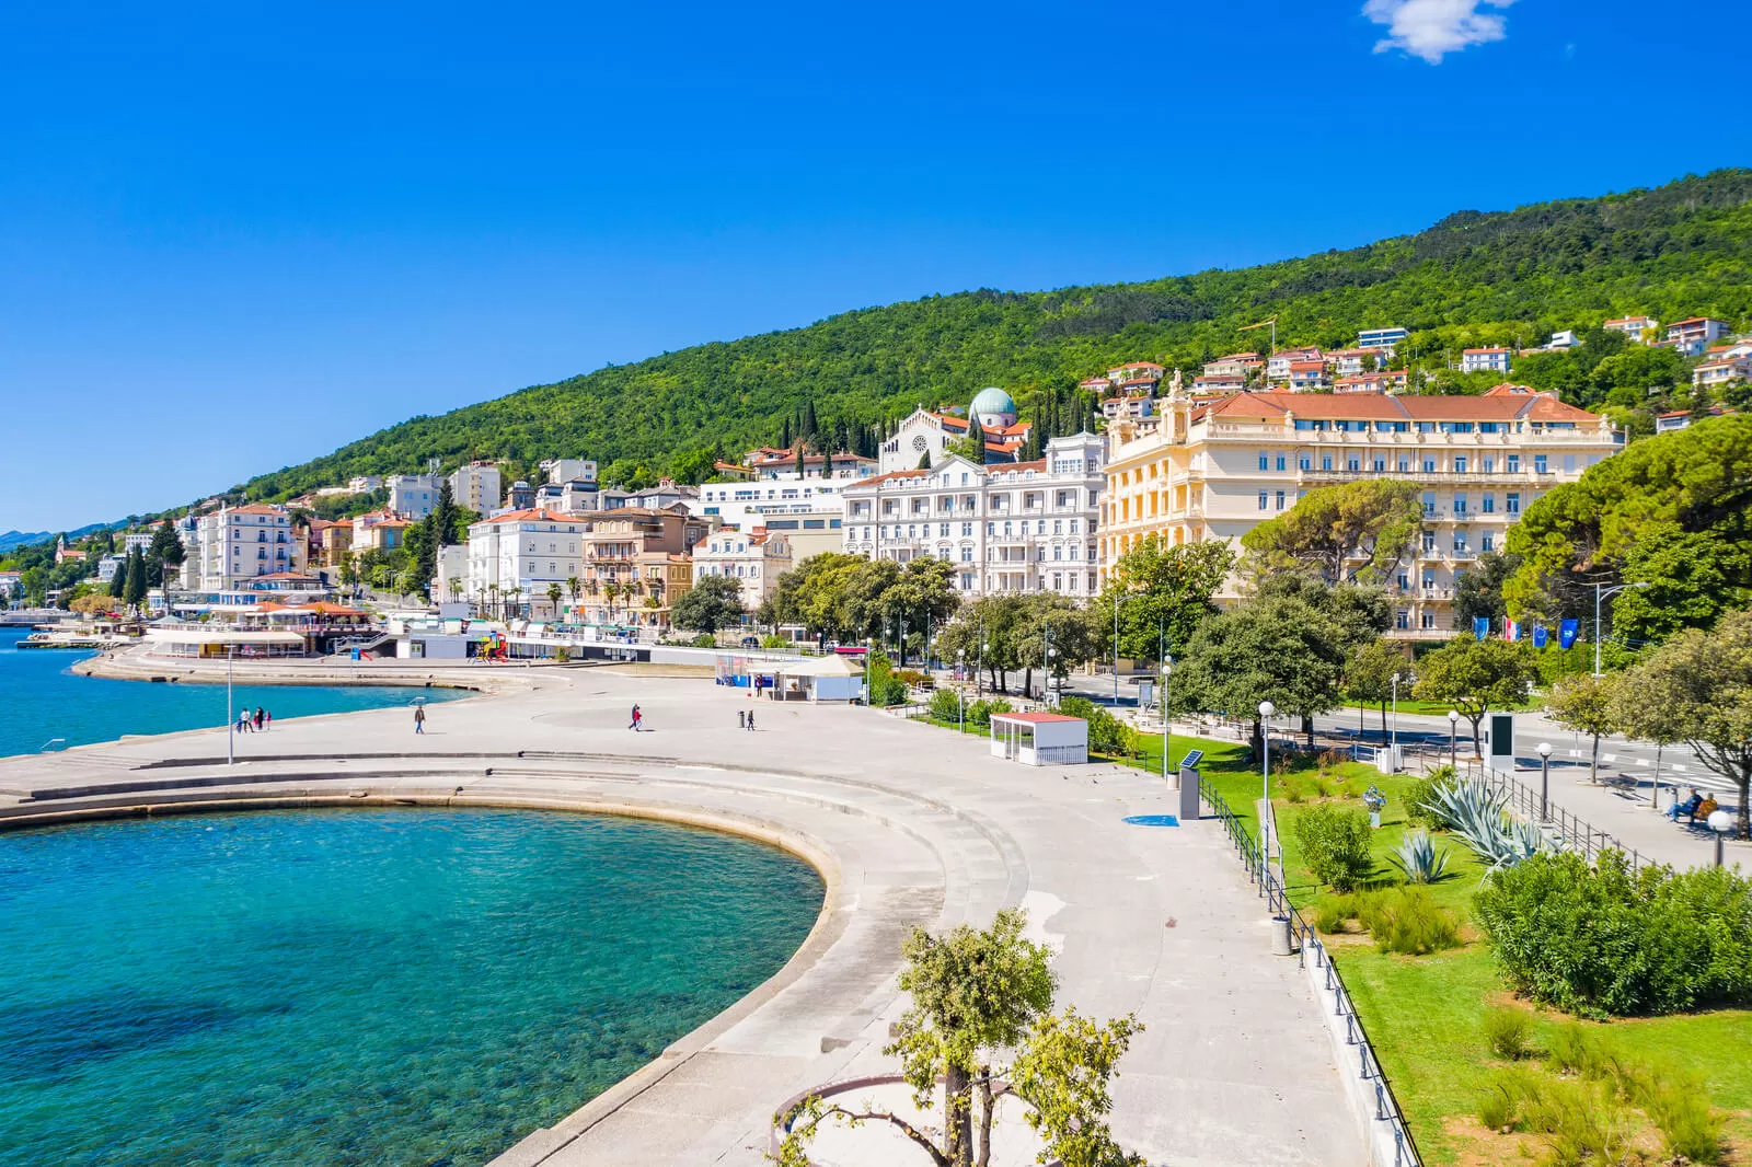
[[[1316,487],[1240,536],[1247,571],[1254,578],[1312,571],[1330,584],[1391,578],[1423,529],[1417,496],[1416,482],[1398,478]],[[1353,569],[1353,557],[1363,564]]]

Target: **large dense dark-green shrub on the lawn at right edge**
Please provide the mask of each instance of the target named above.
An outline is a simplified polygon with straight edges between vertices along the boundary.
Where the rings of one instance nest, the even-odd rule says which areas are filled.
[[[1582,1016],[1752,1004],[1752,881],[1540,853],[1475,897],[1512,988]]]

